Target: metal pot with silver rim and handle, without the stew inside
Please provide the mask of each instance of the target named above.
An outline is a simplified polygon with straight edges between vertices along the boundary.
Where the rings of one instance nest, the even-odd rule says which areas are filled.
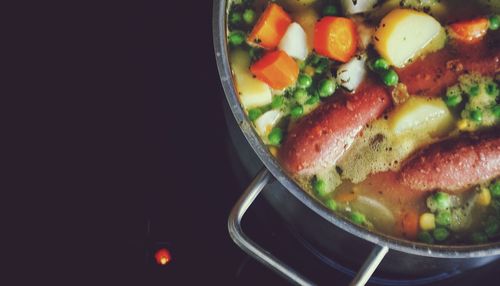
[[[260,163],[264,166],[230,215],[229,232],[236,244],[291,281],[312,284],[251,241],[241,229],[240,221],[245,211],[267,186],[264,197],[308,243],[321,249],[325,256],[343,257],[346,263],[359,265],[365,261],[353,280],[356,285],[366,283],[377,267],[384,273],[437,275],[479,267],[500,258],[499,242],[470,246],[431,245],[369,231],[332,213],[304,192],[269,153],[238,101],[227,51],[227,3],[227,0],[214,1],[213,38],[217,66],[229,108],[234,115],[231,121],[247,141],[237,143],[238,149],[242,151],[248,148],[248,151],[240,152],[247,157],[244,160],[257,162],[249,164],[250,172],[255,172]]]

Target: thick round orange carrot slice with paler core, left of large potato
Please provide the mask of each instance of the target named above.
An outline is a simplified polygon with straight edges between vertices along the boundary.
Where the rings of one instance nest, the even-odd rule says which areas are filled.
[[[349,18],[324,17],[314,28],[314,50],[333,60],[349,61],[358,47],[356,24]]]

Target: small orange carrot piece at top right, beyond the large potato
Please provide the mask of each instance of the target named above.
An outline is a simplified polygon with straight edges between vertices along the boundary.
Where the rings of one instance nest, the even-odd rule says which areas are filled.
[[[476,18],[451,24],[452,36],[457,40],[475,43],[481,40],[488,32],[489,21],[486,18]]]

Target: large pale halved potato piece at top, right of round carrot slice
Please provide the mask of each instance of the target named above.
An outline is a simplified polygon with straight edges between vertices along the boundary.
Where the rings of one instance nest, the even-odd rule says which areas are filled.
[[[403,67],[441,31],[432,16],[411,9],[387,14],[375,32],[375,49],[396,67]]]

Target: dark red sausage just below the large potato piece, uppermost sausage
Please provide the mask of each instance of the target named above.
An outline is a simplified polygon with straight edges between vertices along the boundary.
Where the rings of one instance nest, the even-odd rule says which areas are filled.
[[[495,75],[500,71],[500,49],[487,43],[448,46],[396,71],[409,94],[440,96],[462,74]]]

